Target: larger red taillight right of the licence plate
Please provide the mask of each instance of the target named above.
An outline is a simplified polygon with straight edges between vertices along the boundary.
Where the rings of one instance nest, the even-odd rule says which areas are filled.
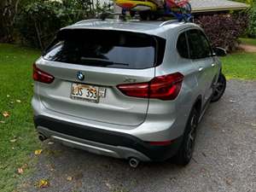
[[[174,100],[181,90],[183,74],[172,73],[155,77],[148,83],[120,84],[118,89],[126,96]]]

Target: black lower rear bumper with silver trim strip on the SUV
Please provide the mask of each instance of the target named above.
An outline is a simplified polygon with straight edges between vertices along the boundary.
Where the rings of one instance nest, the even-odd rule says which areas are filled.
[[[135,157],[143,161],[167,160],[177,153],[182,143],[182,137],[178,137],[168,146],[151,146],[126,133],[73,124],[46,116],[35,116],[34,123],[38,132],[59,143],[121,159]]]

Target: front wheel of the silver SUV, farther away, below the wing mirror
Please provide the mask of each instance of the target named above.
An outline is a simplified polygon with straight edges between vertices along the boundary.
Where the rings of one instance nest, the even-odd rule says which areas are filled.
[[[211,102],[218,102],[226,90],[226,78],[223,73],[219,74],[217,85],[213,91]]]

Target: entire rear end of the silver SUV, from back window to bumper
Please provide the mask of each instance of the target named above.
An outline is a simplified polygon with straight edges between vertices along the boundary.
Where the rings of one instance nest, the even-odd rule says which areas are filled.
[[[189,112],[177,108],[183,74],[163,69],[166,39],[113,28],[62,29],[33,66],[40,138],[124,159],[176,154]]]

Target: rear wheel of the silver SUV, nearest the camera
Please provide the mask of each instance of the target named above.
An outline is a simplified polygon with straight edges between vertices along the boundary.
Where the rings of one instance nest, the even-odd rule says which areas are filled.
[[[174,156],[175,163],[180,166],[186,166],[192,159],[195,148],[196,128],[198,125],[199,113],[195,108],[192,109],[186,129],[183,134],[183,142]]]

